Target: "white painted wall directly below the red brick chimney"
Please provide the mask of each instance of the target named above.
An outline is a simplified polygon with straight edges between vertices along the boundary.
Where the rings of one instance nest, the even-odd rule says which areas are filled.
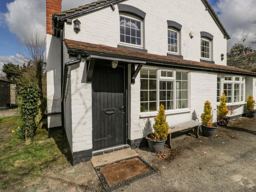
[[[61,112],[60,84],[60,39],[46,35],[47,58],[47,110]],[[61,126],[60,115],[48,116],[48,128]]]

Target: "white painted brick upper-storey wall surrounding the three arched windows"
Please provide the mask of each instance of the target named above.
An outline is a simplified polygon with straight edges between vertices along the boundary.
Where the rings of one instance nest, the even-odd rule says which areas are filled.
[[[214,35],[213,60],[215,64],[226,65],[226,56],[221,61],[221,54],[226,55],[227,40],[206,11],[201,0],[169,1],[162,0],[128,0],[122,4],[138,7],[146,12],[145,49],[148,53],[166,55],[167,20],[174,20],[182,25],[181,52],[184,59],[200,61],[200,31]],[[76,34],[74,26],[65,23],[65,38],[117,47],[120,39],[119,12],[110,7],[79,17],[81,31]],[[74,18],[76,19],[76,18]],[[190,31],[195,32],[192,39]]]

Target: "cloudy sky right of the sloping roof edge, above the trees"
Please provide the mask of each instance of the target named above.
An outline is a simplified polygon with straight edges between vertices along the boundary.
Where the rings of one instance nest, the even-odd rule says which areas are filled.
[[[223,23],[231,39],[227,41],[227,49],[235,43],[241,43],[246,38],[245,44],[251,46],[251,41],[256,38],[255,0],[218,0],[214,6],[219,19]]]

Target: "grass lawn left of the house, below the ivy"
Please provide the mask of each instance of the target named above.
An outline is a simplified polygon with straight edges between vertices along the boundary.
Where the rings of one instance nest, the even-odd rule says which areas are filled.
[[[0,118],[0,189],[18,187],[58,164],[70,166],[63,154],[66,144],[60,132],[48,134],[39,128],[33,142],[25,146],[12,133],[20,124],[20,115]]]

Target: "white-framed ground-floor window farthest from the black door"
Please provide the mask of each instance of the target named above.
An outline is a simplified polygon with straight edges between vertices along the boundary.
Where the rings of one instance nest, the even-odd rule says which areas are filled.
[[[231,105],[233,103],[245,102],[245,78],[242,76],[218,76],[217,77],[217,102],[219,95],[222,93],[226,95],[226,103]]]

